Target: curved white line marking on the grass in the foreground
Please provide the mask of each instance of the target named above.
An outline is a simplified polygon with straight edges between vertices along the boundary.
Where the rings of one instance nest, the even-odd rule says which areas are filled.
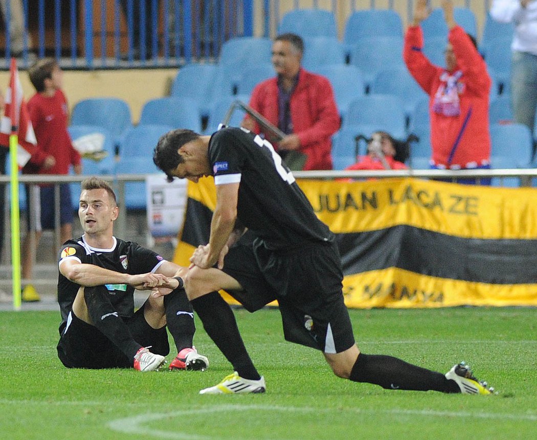
[[[295,413],[326,413],[331,414],[339,412],[338,409],[326,408],[309,408],[309,407],[284,407],[272,405],[218,405],[206,406],[201,408],[185,409],[180,411],[166,413],[146,413],[124,419],[113,420],[108,423],[114,431],[124,434],[147,435],[161,438],[171,438],[174,440],[220,440],[220,437],[205,436],[198,434],[187,434],[186,432],[178,431],[163,431],[144,426],[144,424],[155,422],[163,419],[171,419],[172,417],[199,415],[199,414],[214,414],[215,412],[230,412],[230,411],[277,411],[277,412],[295,412]],[[416,415],[416,416],[431,416],[431,417],[461,417],[472,419],[493,419],[493,420],[513,420],[513,421],[529,421],[537,422],[537,414],[507,414],[507,413],[468,413],[455,411],[437,411],[431,409],[361,409],[361,408],[346,408],[346,413],[356,414],[392,414],[392,415]]]

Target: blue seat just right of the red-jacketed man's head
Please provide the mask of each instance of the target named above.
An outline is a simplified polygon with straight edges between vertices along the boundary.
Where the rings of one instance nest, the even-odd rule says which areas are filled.
[[[345,64],[342,43],[333,36],[316,36],[304,39],[304,56],[302,66],[316,72],[318,68],[329,64]]]

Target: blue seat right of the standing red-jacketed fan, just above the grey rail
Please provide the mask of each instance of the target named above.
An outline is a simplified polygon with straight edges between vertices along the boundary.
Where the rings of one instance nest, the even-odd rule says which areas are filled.
[[[490,157],[509,168],[531,166],[532,134],[524,124],[490,124]],[[494,165],[494,161],[493,161]]]

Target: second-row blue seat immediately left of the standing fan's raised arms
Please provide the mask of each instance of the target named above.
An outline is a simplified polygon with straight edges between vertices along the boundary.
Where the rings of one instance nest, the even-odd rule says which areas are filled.
[[[351,48],[350,63],[360,69],[366,90],[384,69],[405,67],[403,39],[397,36],[362,38]]]

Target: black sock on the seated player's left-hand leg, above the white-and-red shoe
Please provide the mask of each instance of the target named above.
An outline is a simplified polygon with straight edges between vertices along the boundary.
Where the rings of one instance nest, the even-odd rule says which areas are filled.
[[[130,330],[121,319],[108,298],[104,285],[84,288],[84,300],[92,324],[110,339],[129,359],[133,359],[142,347],[137,343]]]

